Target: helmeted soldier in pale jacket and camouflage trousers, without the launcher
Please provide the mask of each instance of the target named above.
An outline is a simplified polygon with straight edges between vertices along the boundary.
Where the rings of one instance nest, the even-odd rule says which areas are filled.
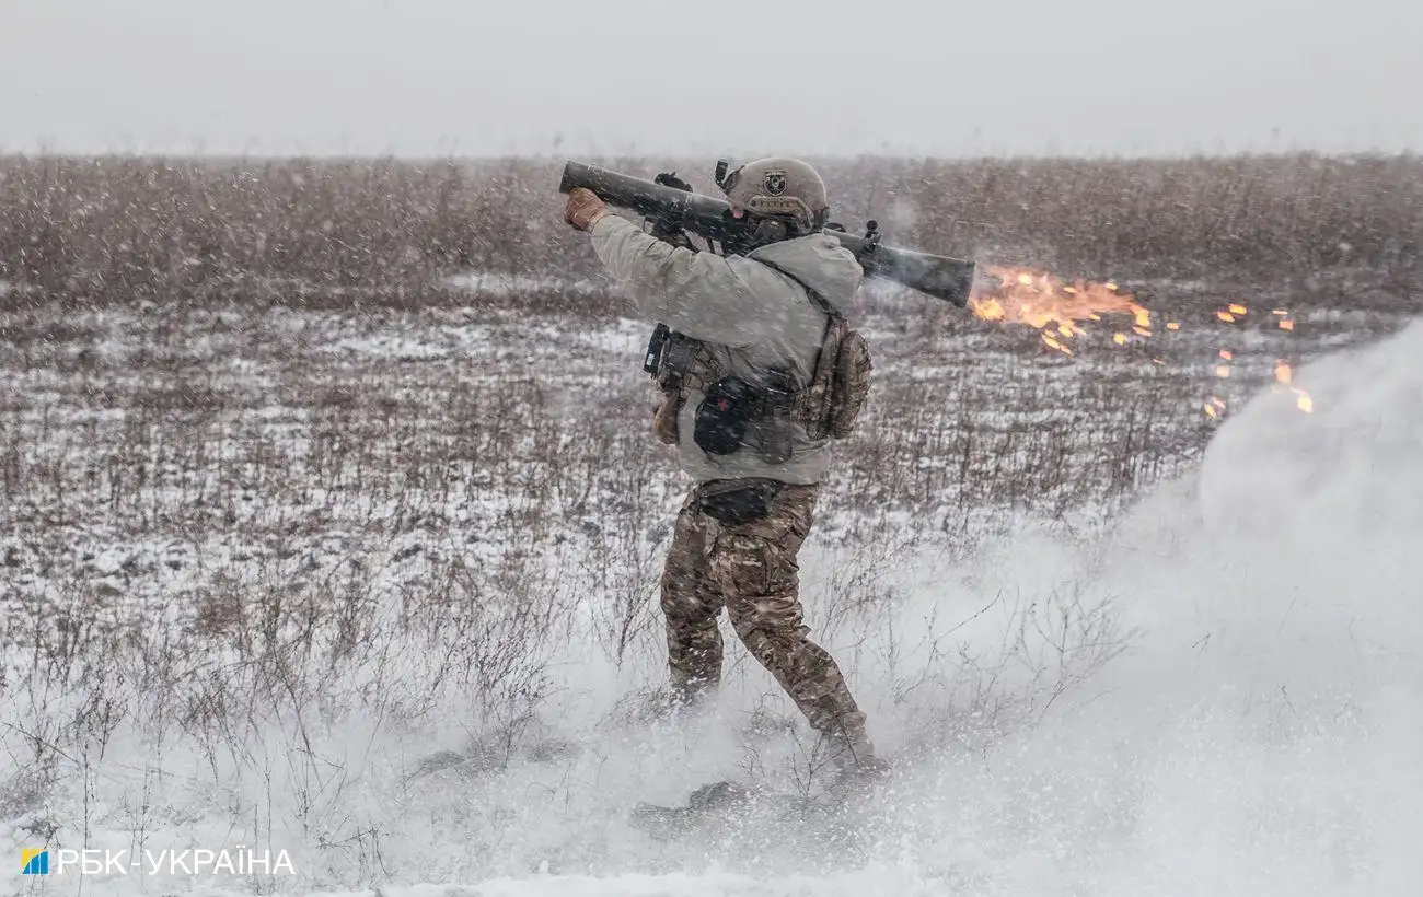
[[[582,188],[565,210],[638,308],[675,331],[659,353],[665,401],[653,415],[694,480],[662,576],[673,692],[694,702],[717,687],[724,607],[835,765],[879,773],[865,715],[834,658],[808,638],[797,566],[830,463],[828,435],[848,429],[825,419],[822,350],[847,333],[844,313],[864,272],[821,233],[828,202],[810,165],[760,159],[721,189],[756,235],[726,256],[649,235]],[[851,395],[840,399],[852,405],[850,424],[868,367],[864,354],[850,371]]]

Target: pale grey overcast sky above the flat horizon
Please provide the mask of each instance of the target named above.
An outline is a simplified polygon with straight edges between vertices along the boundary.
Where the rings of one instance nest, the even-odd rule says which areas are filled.
[[[0,149],[1423,149],[1423,0],[0,0]]]

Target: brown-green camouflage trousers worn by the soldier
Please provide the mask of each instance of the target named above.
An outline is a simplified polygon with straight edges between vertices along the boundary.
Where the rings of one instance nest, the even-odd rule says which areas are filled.
[[[795,556],[814,520],[817,486],[785,486],[770,513],[721,523],[697,505],[682,505],[662,574],[667,665],[673,689],[694,699],[721,680],[721,633],[727,610],[736,634],[791,697],[811,726],[861,749],[865,715],[830,654],[807,638]]]

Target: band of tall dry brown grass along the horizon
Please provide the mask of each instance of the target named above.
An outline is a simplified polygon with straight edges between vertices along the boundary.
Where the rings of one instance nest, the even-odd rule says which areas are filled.
[[[629,173],[709,161],[605,159]],[[1414,270],[1423,162],[827,159],[837,216],[889,240],[1110,277]],[[0,280],[78,301],[336,286],[430,299],[468,269],[592,276],[558,220],[559,161],[0,158]],[[706,176],[693,178],[712,189]]]

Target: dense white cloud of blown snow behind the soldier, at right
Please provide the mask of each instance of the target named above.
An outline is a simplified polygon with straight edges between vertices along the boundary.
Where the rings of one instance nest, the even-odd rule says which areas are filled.
[[[906,776],[882,840],[924,893],[1423,887],[1420,360],[1414,323],[1312,364],[1315,414],[1261,392],[1104,543],[996,553],[996,589],[1070,580],[1134,638],[1035,726]]]

